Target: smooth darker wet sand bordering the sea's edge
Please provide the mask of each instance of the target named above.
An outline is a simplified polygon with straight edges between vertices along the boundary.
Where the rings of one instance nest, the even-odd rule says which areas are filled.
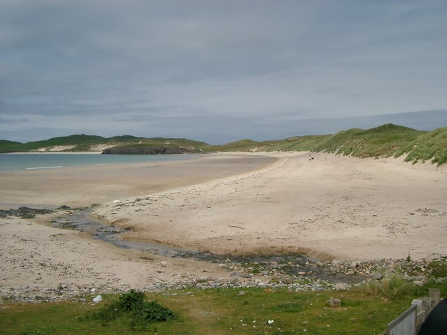
[[[0,209],[86,207],[232,176],[274,161],[269,156],[209,154],[187,161],[0,172]]]

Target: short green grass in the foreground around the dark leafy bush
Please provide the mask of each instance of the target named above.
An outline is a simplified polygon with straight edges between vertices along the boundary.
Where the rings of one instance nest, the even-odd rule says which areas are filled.
[[[392,298],[365,294],[364,288],[343,292],[250,288],[244,289],[245,295],[239,295],[241,289],[147,293],[146,299],[158,301],[177,318],[137,328],[126,318],[103,325],[85,317],[117,301],[118,295],[104,297],[101,304],[5,303],[0,305],[0,334],[303,334],[305,330],[307,334],[379,334],[413,299],[427,295],[428,287],[441,287],[443,296],[447,293],[446,283],[406,287]],[[342,300],[342,306],[330,307],[331,297]]]

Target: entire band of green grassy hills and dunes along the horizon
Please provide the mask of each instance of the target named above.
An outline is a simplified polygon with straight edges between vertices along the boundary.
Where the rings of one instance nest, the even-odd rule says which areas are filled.
[[[189,152],[215,151],[323,151],[355,157],[405,156],[413,163],[431,161],[437,165],[447,162],[447,127],[434,131],[384,124],[371,129],[353,128],[329,135],[307,135],[285,140],[256,142],[240,140],[223,145],[211,145],[184,138],[133,137],[130,135],[101,137],[95,135],[71,135],[54,137],[38,142],[10,142],[0,140],[0,153],[23,151],[49,151],[57,146],[72,146],[66,151],[92,151],[98,144],[120,148],[163,146],[187,148]]]

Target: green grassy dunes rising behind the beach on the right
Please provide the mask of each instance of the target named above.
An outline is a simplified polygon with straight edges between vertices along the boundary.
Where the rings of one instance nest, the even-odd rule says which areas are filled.
[[[434,131],[384,124],[367,130],[353,128],[332,135],[308,135],[286,140],[242,140],[212,147],[214,151],[323,151],[355,157],[406,156],[413,163],[447,162],[447,127]]]

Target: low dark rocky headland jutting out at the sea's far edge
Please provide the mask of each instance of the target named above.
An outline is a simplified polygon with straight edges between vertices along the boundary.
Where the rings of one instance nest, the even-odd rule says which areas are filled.
[[[126,147],[116,146],[104,149],[101,154],[110,155],[175,155],[175,154],[193,154],[196,149],[193,147],[172,147],[167,145],[151,145],[151,146],[137,146]]]

